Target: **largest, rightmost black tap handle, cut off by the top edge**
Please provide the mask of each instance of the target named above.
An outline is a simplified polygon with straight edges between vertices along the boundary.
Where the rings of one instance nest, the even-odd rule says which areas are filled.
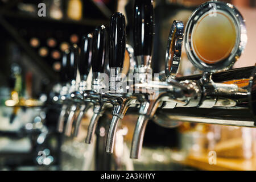
[[[154,37],[154,9],[152,0],[134,3],[134,56],[151,56]]]

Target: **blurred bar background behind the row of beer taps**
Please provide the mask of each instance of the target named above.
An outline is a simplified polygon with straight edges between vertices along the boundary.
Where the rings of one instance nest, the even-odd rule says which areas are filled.
[[[187,23],[201,0],[155,0],[155,38],[152,67],[164,70],[164,56],[171,24]],[[246,19],[248,43],[234,68],[256,63],[256,0],[225,1],[237,6]],[[39,17],[39,3],[46,16]],[[104,140],[93,145],[84,139],[92,111],[82,120],[77,138],[56,133],[60,107],[46,102],[59,81],[61,52],[96,26],[109,25],[119,11],[126,16],[127,43],[133,46],[133,3],[128,0],[0,0],[0,169],[1,170],[256,170],[256,129],[182,123],[164,129],[149,122],[142,158],[129,159],[135,122],[127,115],[117,133],[114,156],[102,154]],[[179,76],[200,73],[183,48]],[[14,106],[12,101],[24,101]],[[106,116],[106,117],[110,117]],[[105,121],[104,121],[105,122]],[[100,122],[102,126],[107,122]],[[97,132],[105,137],[104,127]],[[97,147],[96,147],[97,146]],[[100,146],[100,147],[99,147]],[[217,164],[209,164],[216,151]]]

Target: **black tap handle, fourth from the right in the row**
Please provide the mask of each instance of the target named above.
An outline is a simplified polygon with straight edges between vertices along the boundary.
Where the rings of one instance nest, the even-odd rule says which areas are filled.
[[[82,37],[81,53],[78,63],[78,69],[81,78],[89,75],[92,58],[92,34]]]

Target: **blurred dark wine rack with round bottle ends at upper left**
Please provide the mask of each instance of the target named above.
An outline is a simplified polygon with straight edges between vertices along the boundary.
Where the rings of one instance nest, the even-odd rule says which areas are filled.
[[[67,13],[63,13],[61,19],[53,19],[48,13],[46,17],[39,17],[18,8],[19,3],[29,3],[37,7],[39,1],[7,1],[1,5],[0,26],[32,58],[34,63],[31,66],[36,64],[37,69],[46,73],[49,81],[54,82],[58,78],[61,52],[73,43],[80,44],[80,38],[92,32],[96,26],[108,24],[109,17],[106,12],[112,14],[117,6],[117,1],[102,1],[106,2],[104,8],[108,11],[105,11],[97,1],[81,2],[80,20],[68,18]],[[67,6],[67,2],[63,2],[63,6]],[[64,11],[67,10],[63,9]]]

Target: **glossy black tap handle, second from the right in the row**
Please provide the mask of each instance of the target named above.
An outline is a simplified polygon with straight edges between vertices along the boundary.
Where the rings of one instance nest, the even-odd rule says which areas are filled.
[[[122,13],[112,15],[109,27],[109,67],[123,67],[126,46],[126,24]]]

